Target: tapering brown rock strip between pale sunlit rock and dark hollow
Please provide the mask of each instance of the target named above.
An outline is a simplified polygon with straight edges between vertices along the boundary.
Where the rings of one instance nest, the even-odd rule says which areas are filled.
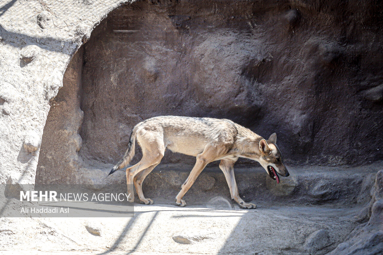
[[[42,137],[36,185],[71,183],[82,163],[78,152],[83,120],[81,103],[82,47],[74,55],[63,78],[63,87],[51,101]]]

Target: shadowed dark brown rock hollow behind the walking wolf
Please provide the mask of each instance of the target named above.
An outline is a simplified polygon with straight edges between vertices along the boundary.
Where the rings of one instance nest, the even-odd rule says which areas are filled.
[[[353,43],[367,42],[372,31],[354,24],[344,36],[342,19],[331,8],[283,1],[140,1],[117,8],[67,67],[44,127],[36,186],[103,188],[134,125],[159,115],[228,118],[264,137],[276,132],[291,165],[382,159],[375,148],[381,137],[373,136],[383,133],[381,102],[363,97],[382,72],[374,67],[378,49],[362,56]],[[188,171],[194,162],[167,152],[161,164]],[[259,167],[249,160],[237,165],[245,173]],[[257,174],[266,187],[265,173]]]

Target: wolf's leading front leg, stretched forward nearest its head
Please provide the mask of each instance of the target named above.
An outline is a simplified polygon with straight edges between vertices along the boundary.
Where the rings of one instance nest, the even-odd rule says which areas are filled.
[[[257,206],[252,203],[245,203],[239,196],[236,178],[234,177],[234,163],[237,161],[231,159],[222,159],[219,163],[219,168],[225,175],[226,181],[228,182],[231,199],[236,201],[242,209],[255,209]]]

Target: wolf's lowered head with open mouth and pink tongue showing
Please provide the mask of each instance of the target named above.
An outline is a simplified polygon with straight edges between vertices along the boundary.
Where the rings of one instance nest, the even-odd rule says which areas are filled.
[[[259,163],[265,168],[270,178],[279,183],[278,173],[283,177],[288,177],[290,173],[283,164],[282,154],[276,142],[277,134],[275,133],[268,137],[267,141],[265,139],[259,141]]]

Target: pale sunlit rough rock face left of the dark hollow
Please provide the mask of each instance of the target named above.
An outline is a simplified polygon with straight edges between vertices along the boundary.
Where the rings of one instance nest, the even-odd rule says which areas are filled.
[[[12,0],[1,4],[2,201],[8,191],[17,193],[34,185],[43,128],[65,69],[92,29],[121,3]]]

